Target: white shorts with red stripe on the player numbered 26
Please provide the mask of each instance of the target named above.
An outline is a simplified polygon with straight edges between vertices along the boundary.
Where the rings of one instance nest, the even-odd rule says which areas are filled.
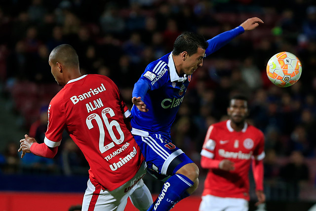
[[[100,184],[94,186],[89,179],[83,196],[82,211],[124,211],[128,197],[134,192],[134,200],[131,197],[134,206],[142,206],[137,208],[139,210],[147,210],[153,203],[153,199],[150,191],[141,179],[145,174],[146,162],[143,162],[133,178],[113,191],[101,189]],[[137,180],[139,181],[134,184]],[[125,188],[129,190],[124,192]]]

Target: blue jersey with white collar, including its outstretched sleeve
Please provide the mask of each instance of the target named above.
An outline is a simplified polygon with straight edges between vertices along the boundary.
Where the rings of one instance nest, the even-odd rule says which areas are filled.
[[[243,32],[244,29],[239,26],[207,40],[205,57]],[[132,107],[132,133],[141,136],[154,133],[170,135],[171,125],[190,80],[191,75],[178,75],[172,52],[150,63],[135,83],[132,94],[133,97],[141,97],[148,112],[140,111],[137,106]]]

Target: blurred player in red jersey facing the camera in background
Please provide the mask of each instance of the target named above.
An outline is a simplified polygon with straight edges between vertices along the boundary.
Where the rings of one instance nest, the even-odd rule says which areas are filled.
[[[263,192],[263,133],[245,122],[247,99],[238,95],[227,108],[230,117],[208,128],[201,151],[201,167],[208,169],[199,211],[248,211],[249,177],[256,183],[256,205],[266,200]]]

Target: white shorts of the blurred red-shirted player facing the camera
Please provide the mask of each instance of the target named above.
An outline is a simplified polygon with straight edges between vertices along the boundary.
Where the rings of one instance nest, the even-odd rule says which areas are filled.
[[[248,211],[248,201],[206,195],[202,196],[198,211]]]

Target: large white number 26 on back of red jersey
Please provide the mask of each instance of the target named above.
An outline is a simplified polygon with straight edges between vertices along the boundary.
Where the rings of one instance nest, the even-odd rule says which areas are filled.
[[[108,130],[110,137],[112,139],[113,142],[104,145],[104,141],[105,141],[105,132],[104,132],[104,127],[103,127],[103,122],[101,117],[96,114],[96,113],[91,113],[85,120],[85,123],[88,126],[88,129],[90,130],[91,128],[93,128],[92,125],[92,120],[94,119],[99,127],[99,131],[100,131],[100,137],[99,137],[99,149],[101,153],[104,153],[105,151],[111,149],[112,147],[114,147],[114,143],[116,144],[121,144],[124,141],[124,134],[122,129],[120,129],[120,126],[118,124],[118,121],[116,120],[112,120],[111,122],[109,121],[107,114],[110,115],[110,117],[115,116],[115,113],[113,111],[112,108],[110,107],[106,107],[102,110],[102,118],[105,124],[106,129]],[[118,131],[119,134],[119,139],[117,139],[117,137],[115,136],[114,132],[113,132],[113,127],[115,127]]]

